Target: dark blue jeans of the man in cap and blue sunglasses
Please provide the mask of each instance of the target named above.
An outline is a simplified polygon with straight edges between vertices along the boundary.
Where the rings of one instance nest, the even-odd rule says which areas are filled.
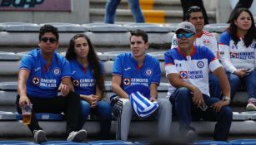
[[[192,98],[193,94],[185,87],[176,89],[170,96],[174,113],[178,117],[181,133],[194,130],[194,128],[190,126],[193,118],[203,118],[203,120],[217,121],[214,129],[214,140],[227,141],[233,118],[232,110],[228,106],[223,106],[219,112],[213,111],[211,106],[215,102],[218,102],[219,99],[211,98],[203,94],[203,100],[205,104],[208,105],[208,109],[203,111],[193,104]]]

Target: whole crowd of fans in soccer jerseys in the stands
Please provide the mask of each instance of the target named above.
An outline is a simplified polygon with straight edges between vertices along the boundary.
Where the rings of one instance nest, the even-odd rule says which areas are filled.
[[[105,17],[105,22],[113,23],[119,2],[107,2],[107,12],[112,14]],[[112,5],[115,8],[110,12]],[[35,116],[37,113],[64,113],[68,141],[79,142],[86,138],[87,132],[82,128],[89,114],[98,114],[103,139],[109,138],[114,117],[118,122],[117,139],[128,140],[133,116],[157,116],[158,138],[169,138],[174,115],[181,135],[188,141],[196,138],[195,128],[190,124],[193,118],[215,121],[213,139],[227,141],[233,118],[230,104],[244,82],[248,93],[246,109],[256,111],[253,15],[246,8],[238,8],[229,18],[230,25],[219,41],[203,30],[207,22],[202,8],[189,7],[184,18],[186,22],[178,24],[172,46],[164,53],[170,86],[167,98],[161,99],[158,99],[160,65],[146,53],[149,42],[145,31],[131,31],[131,52],[115,58],[114,95],[107,102],[103,99],[103,64],[88,36],[73,36],[64,58],[55,52],[59,46],[58,29],[51,25],[41,27],[38,48],[23,57],[18,73],[17,110],[21,114],[21,107],[33,104],[28,128],[35,141],[47,141],[47,133],[40,128]],[[144,22],[142,18],[135,19]]]

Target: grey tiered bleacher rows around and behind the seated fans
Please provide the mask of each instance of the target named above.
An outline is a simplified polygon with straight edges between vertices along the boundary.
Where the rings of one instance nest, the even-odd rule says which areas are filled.
[[[111,80],[113,60],[115,56],[123,51],[129,51],[129,31],[133,29],[143,29],[148,32],[151,48],[148,55],[155,56],[160,60],[162,70],[161,85],[158,87],[159,97],[165,97],[168,91],[168,81],[164,76],[163,53],[167,51],[172,40],[177,24],[131,24],[126,25],[107,25],[107,24],[68,24],[52,23],[60,31],[61,48],[58,50],[64,55],[70,38],[77,33],[88,35],[93,44],[96,46],[98,56],[103,60],[106,68],[108,80]],[[21,117],[16,113],[14,107],[17,95],[17,75],[18,65],[21,58],[28,53],[33,47],[37,46],[38,30],[43,24],[33,23],[0,23],[0,138],[5,137],[32,137],[28,128],[23,125]],[[218,36],[228,26],[226,24],[211,24],[205,27],[215,36]],[[106,82],[108,97],[113,94],[111,82]],[[108,100],[108,97],[106,98]],[[246,112],[247,94],[242,88],[236,94],[233,100],[233,123],[230,135],[233,138],[242,136],[253,137],[256,130],[256,112]],[[66,123],[63,121],[61,114],[38,114],[40,125],[50,137],[63,137]],[[88,118],[83,128],[88,130],[88,134],[97,134],[99,123],[93,116]],[[114,136],[116,121],[113,119],[111,133]],[[196,133],[200,137],[212,139],[213,122],[193,121],[193,126],[197,128]],[[157,122],[153,120],[136,120],[134,119],[130,136],[134,138],[152,138],[157,129]],[[178,133],[178,123],[173,121],[172,134]],[[175,135],[173,135],[175,138]]]

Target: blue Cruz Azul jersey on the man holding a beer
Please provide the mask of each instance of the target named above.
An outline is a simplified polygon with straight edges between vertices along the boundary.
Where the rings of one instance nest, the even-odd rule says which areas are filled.
[[[56,97],[61,80],[71,75],[68,60],[56,52],[53,53],[52,64],[48,71],[45,69],[46,64],[47,61],[43,59],[40,49],[30,51],[21,60],[19,69],[30,72],[27,81],[27,94],[31,97]]]

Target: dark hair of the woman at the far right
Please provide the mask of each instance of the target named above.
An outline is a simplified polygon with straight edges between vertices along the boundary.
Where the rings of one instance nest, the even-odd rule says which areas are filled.
[[[245,36],[243,36],[244,46],[248,47],[252,44],[253,39],[256,39],[256,30],[255,30],[255,24],[253,20],[253,14],[247,8],[238,8],[238,10],[233,13],[232,17],[230,17],[228,32],[230,33],[231,38],[234,41],[234,44],[237,45],[239,41],[239,38],[237,36],[238,27],[235,25],[234,22],[238,19],[239,15],[242,12],[248,12],[252,20],[252,26],[248,29]]]

